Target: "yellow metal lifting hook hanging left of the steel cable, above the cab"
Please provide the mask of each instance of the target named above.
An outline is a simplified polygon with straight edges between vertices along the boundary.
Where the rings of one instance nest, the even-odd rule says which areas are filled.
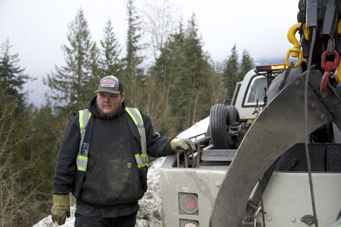
[[[293,26],[291,26],[289,28],[289,31],[288,31],[288,34],[287,34],[289,42],[291,44],[293,44],[294,47],[290,48],[287,51],[287,54],[285,55],[285,58],[284,58],[284,62],[285,62],[285,64],[287,66],[289,66],[289,57],[290,57],[290,55],[292,57],[297,57],[298,58],[297,62],[293,65],[293,68],[296,68],[296,67],[300,66],[300,64],[302,64],[302,60],[303,60],[303,51],[300,49],[299,42],[298,42],[297,38],[295,37],[295,34],[299,30],[301,24],[302,23],[296,23]],[[306,24],[303,24],[302,30],[303,30],[304,38],[306,40],[309,40],[309,28],[308,29],[306,28]]]

